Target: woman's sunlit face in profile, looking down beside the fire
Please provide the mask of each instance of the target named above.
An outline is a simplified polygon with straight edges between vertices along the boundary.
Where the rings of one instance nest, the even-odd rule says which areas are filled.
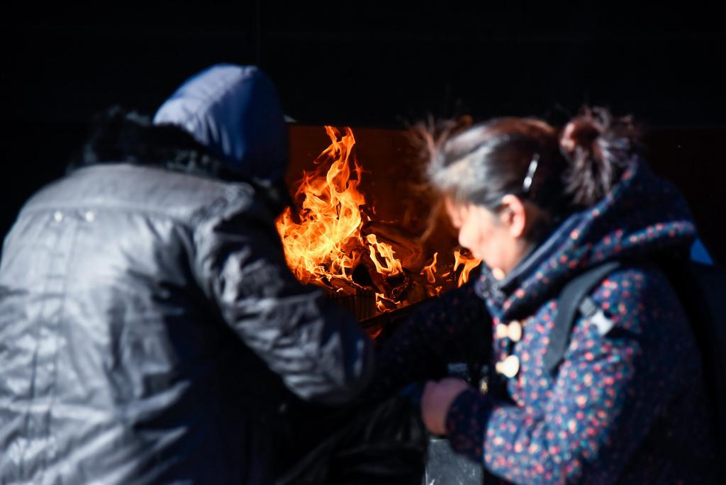
[[[459,232],[459,244],[471,251],[475,258],[484,261],[492,270],[500,269],[504,274],[518,264],[526,248],[521,230],[513,231],[511,213],[494,213],[472,203],[456,203],[449,197],[445,200],[446,213],[454,228]],[[505,206],[505,211],[509,208]]]

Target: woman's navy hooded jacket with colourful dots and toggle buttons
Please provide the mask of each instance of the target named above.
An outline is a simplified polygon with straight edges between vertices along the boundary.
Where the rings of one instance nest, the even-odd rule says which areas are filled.
[[[486,392],[462,392],[446,416],[452,448],[481,462],[487,483],[709,482],[714,436],[701,359],[656,264],[687,258],[695,237],[680,194],[635,160],[611,193],[569,216],[505,280],[484,267],[421,311],[383,351],[386,382],[376,384],[396,388],[426,378],[436,362],[457,362],[487,325]],[[613,260],[621,269],[590,294],[599,316],[576,319],[550,375],[543,358],[561,288]],[[514,321],[521,336],[502,331]],[[494,372],[510,356],[516,368],[499,365],[509,377]]]

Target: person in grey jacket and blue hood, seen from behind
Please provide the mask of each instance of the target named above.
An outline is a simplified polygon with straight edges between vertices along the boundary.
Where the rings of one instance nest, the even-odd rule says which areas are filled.
[[[4,241],[0,483],[272,483],[286,409],[354,399],[373,350],[285,264],[271,81],[216,65],[94,128]]]

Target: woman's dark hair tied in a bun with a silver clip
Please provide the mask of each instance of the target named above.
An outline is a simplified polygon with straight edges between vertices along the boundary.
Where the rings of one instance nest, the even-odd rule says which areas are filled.
[[[496,210],[507,194],[558,218],[602,199],[638,150],[630,118],[586,108],[562,129],[495,118],[452,134],[429,132],[428,179],[459,203]]]

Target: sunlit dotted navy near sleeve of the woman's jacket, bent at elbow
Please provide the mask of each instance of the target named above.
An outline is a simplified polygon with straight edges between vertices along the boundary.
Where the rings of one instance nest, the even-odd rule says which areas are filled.
[[[622,270],[592,298],[613,327],[602,336],[588,319],[576,322],[552,385],[527,387],[543,394],[541,411],[474,390],[454,400],[446,428],[457,452],[515,483],[616,481],[659,413],[698,375],[698,359],[661,274]]]

